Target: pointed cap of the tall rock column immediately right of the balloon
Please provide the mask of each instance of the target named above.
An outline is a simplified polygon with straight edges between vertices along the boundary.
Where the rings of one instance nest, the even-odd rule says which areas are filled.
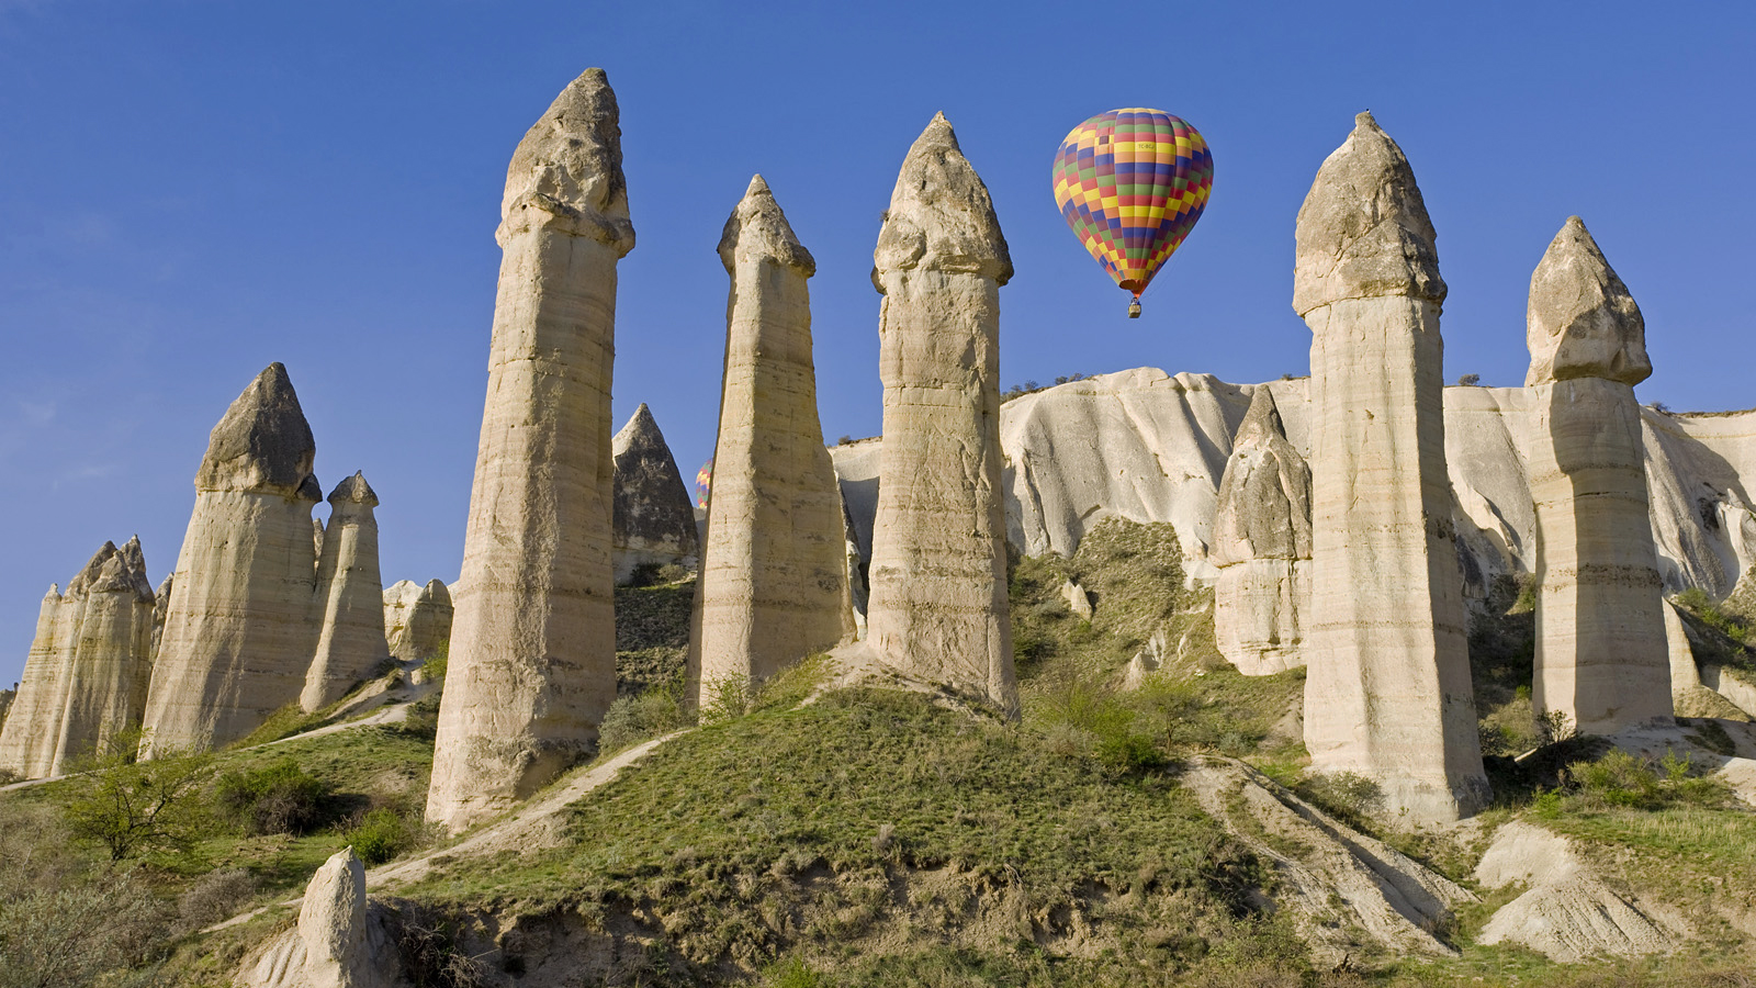
[[[1384,295],[1443,302],[1435,239],[1408,158],[1363,113],[1299,207],[1292,309]]]

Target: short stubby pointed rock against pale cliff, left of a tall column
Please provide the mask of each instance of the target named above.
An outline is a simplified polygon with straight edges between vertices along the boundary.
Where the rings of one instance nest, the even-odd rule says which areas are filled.
[[[1273,392],[1259,385],[1219,483],[1212,548],[1213,636],[1243,675],[1305,665],[1310,557],[1312,471],[1287,441]]]

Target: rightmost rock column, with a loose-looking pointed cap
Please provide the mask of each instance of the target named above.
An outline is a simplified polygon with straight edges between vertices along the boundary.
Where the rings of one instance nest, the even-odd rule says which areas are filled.
[[[1538,716],[1607,735],[1672,716],[1663,580],[1647,515],[1633,385],[1652,374],[1645,320],[1586,225],[1561,227],[1531,274],[1526,338],[1538,427]]]

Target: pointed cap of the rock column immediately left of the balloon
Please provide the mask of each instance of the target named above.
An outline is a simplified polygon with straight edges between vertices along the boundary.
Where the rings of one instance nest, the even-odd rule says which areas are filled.
[[[920,132],[903,158],[890,209],[873,251],[873,285],[885,271],[968,271],[999,285],[1011,280],[1011,253],[982,176],[957,148],[945,114]]]

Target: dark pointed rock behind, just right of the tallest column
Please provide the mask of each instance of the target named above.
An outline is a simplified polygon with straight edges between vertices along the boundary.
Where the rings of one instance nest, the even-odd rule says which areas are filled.
[[[611,454],[616,464],[611,510],[616,582],[629,582],[641,564],[694,568],[701,561],[695,506],[646,403],[616,432]]]

